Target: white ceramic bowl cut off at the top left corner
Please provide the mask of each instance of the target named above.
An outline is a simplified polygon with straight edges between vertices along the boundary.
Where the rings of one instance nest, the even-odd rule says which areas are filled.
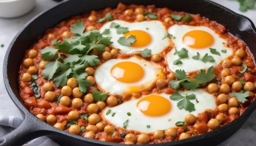
[[[0,0],[0,17],[14,18],[34,8],[36,0]]]

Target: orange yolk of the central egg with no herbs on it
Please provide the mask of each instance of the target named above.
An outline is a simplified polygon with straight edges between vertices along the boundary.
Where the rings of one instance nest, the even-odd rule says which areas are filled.
[[[143,68],[134,62],[119,62],[111,69],[111,75],[120,82],[133,83],[144,76]]]

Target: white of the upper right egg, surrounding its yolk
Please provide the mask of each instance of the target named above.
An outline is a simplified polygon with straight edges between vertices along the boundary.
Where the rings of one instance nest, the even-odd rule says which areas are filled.
[[[214,43],[203,49],[193,49],[192,47],[184,44],[182,42],[183,36],[193,30],[202,30],[210,33],[213,36]],[[213,30],[211,30],[208,27],[193,27],[193,26],[187,26],[187,25],[173,25],[168,29],[168,33],[172,34],[175,38],[172,38],[172,41],[177,49],[177,51],[180,51],[182,48],[185,48],[188,50],[189,58],[180,59],[182,61],[182,64],[174,65],[173,62],[177,59],[179,59],[178,55],[174,55],[175,49],[173,48],[166,56],[166,60],[168,62],[168,68],[175,72],[177,69],[182,69],[186,72],[191,71],[198,71],[200,69],[208,69],[211,66],[216,66],[220,64],[220,62],[226,58],[228,58],[230,55],[233,54],[233,49],[227,47],[227,40],[220,38],[218,34],[216,34]],[[225,44],[223,44],[223,42]],[[216,49],[220,55],[215,55],[210,52],[209,48]],[[222,53],[221,50],[227,50],[226,53]],[[199,60],[193,60],[192,56],[197,55],[197,52],[200,54]],[[211,55],[215,62],[202,62],[203,56],[208,53],[208,55]]]

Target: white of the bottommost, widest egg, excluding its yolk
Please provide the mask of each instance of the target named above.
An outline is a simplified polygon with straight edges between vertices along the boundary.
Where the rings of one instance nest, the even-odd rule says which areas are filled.
[[[196,103],[196,100],[190,100],[193,104],[195,104],[195,111],[191,112],[191,114],[195,116],[204,112],[206,109],[214,110],[216,108],[216,102],[213,95],[203,91],[202,89],[196,89],[195,91],[179,91],[179,93],[182,96],[186,94],[190,95],[192,93],[195,94],[198,103]],[[148,115],[144,115],[137,108],[137,102],[141,98],[148,96],[143,95],[139,99],[131,99],[127,102],[124,102],[123,104],[120,104],[119,106],[105,108],[101,113],[101,117],[117,127],[123,127],[124,122],[128,119],[128,125],[126,127],[127,130],[140,131],[141,133],[150,133],[157,130],[166,130],[167,128],[174,127],[176,122],[184,121],[186,115],[189,114],[189,111],[184,109],[180,110],[177,107],[178,101],[170,100],[170,95],[165,93],[153,93],[153,95],[159,95],[168,99],[168,101],[171,102],[171,111],[159,117],[150,117]],[[106,115],[108,109],[111,110],[111,113]],[[127,115],[128,112],[131,113],[131,116]],[[112,117],[112,113],[116,113],[114,117]],[[150,128],[147,128],[146,125],[150,125]]]

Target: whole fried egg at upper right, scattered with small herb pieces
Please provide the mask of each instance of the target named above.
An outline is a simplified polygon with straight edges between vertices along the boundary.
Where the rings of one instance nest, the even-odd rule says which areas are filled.
[[[227,40],[220,38],[217,33],[208,27],[173,25],[168,29],[168,33],[173,35],[172,41],[177,51],[185,48],[189,55],[189,58],[180,59],[182,64],[175,65],[173,62],[179,59],[179,56],[175,55],[175,49],[172,49],[167,54],[168,68],[173,72],[177,69],[182,69],[186,72],[208,69],[211,66],[220,64],[222,60],[233,54],[233,50],[227,47]],[[209,48],[216,49],[220,55],[212,54]],[[198,60],[194,60],[192,57],[197,53],[200,54],[200,57]],[[211,55],[215,62],[202,62],[202,58],[206,53]]]

